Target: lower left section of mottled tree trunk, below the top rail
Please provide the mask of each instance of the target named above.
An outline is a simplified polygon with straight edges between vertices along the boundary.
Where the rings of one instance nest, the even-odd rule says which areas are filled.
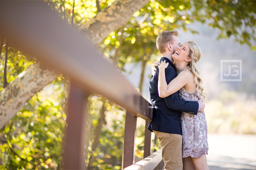
[[[0,94],[0,129],[44,86],[53,82],[59,73],[37,62],[9,83]]]

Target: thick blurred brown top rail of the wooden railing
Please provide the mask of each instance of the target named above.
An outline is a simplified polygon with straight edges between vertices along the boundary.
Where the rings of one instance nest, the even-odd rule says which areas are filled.
[[[85,91],[100,94],[130,113],[152,120],[149,102],[47,3],[1,1],[0,7],[1,36],[72,78]]]

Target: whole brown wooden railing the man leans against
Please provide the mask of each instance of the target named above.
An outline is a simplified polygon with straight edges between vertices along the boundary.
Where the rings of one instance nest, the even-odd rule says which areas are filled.
[[[1,1],[1,10],[1,36],[70,78],[64,169],[84,168],[87,103],[93,92],[126,110],[122,168],[162,168],[161,150],[150,153],[151,132],[147,126],[153,107],[83,35],[42,1]],[[135,163],[137,117],[146,123],[144,159]]]

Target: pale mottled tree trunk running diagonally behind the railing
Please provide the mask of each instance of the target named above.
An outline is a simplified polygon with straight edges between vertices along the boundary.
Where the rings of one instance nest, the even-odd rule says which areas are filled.
[[[89,34],[94,45],[98,45],[112,31],[126,24],[132,15],[145,6],[149,0],[114,1],[94,18],[78,29]],[[44,86],[53,82],[59,74],[40,68],[37,63],[8,84],[0,93],[0,129]]]

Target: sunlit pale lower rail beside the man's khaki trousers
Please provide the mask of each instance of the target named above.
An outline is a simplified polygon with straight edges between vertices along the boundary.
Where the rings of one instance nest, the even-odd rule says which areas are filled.
[[[157,150],[154,153],[152,153],[150,156],[142,159],[139,162],[136,162],[135,164],[132,164],[124,170],[139,170],[139,169],[145,169],[145,170],[150,170],[154,169],[155,167],[158,166],[159,163],[163,161],[162,159],[162,150]]]

